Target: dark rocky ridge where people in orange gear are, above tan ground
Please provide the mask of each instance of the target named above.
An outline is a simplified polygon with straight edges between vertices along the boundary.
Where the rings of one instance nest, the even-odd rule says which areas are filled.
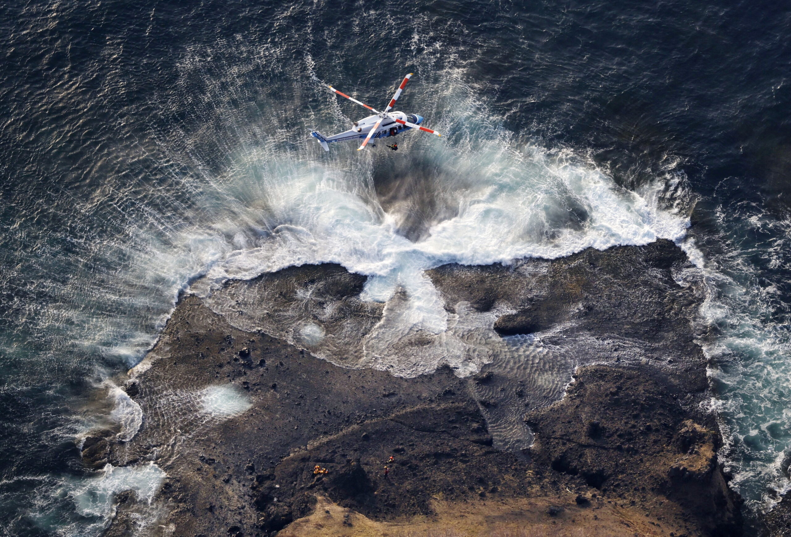
[[[327,473],[317,475],[316,466]],[[256,486],[256,502],[264,525],[269,512],[282,511],[274,497],[300,512],[305,494],[316,493],[371,520],[409,520],[433,515],[436,496],[524,496],[536,484],[524,478],[530,468],[492,449],[475,403],[448,391],[293,453]]]

